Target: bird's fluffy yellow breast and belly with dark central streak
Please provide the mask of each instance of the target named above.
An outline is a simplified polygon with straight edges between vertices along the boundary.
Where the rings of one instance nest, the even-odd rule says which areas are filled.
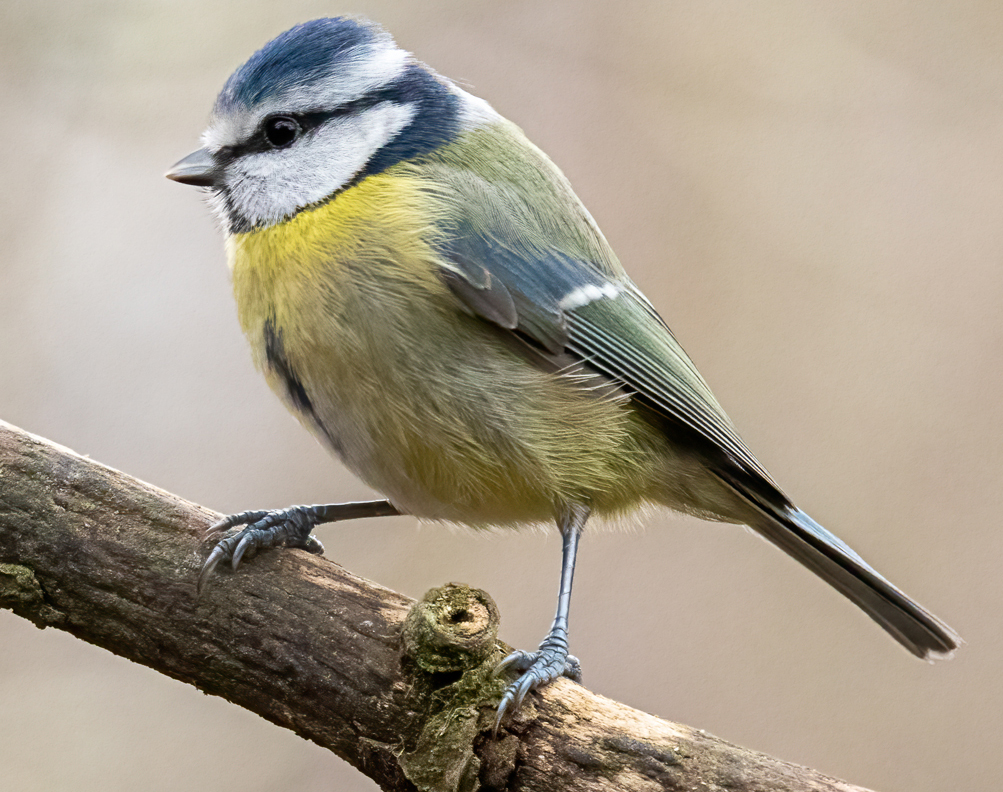
[[[269,383],[418,516],[548,521],[570,501],[602,513],[648,497],[637,471],[656,449],[633,410],[460,309],[438,277],[440,212],[419,178],[387,171],[233,237],[241,325]]]

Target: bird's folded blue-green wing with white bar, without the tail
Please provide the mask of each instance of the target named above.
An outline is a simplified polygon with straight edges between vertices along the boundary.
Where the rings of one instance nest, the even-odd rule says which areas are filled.
[[[464,310],[546,353],[579,358],[668,421],[676,439],[786,502],[563,177],[532,184],[557,223],[533,210],[515,179],[499,186],[452,168],[436,177],[452,195],[441,274]]]

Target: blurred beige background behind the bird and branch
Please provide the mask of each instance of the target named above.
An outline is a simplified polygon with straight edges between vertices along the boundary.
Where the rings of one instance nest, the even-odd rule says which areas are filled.
[[[880,790],[1003,787],[1003,6],[92,0],[0,6],[0,418],[221,511],[369,493],[253,370],[163,171],[287,27],[358,13],[564,168],[795,500],[968,642],[936,666],[741,528],[586,537],[588,686]],[[556,535],[398,518],[329,557],[553,616]],[[372,790],[220,699],[0,613],[7,788]]]

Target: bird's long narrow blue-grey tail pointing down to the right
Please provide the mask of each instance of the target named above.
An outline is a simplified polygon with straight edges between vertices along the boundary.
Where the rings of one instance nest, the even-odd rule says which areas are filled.
[[[760,518],[750,527],[861,608],[896,641],[924,660],[950,658],[961,639],[950,627],[886,580],[834,534],[793,506],[770,504],[740,483],[722,480]]]

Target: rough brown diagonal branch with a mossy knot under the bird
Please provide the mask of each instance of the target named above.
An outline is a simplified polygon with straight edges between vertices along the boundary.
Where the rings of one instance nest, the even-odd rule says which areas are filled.
[[[0,422],[0,607],[246,707],[387,790],[857,790],[568,681],[490,734],[509,648],[482,591],[415,604],[309,553],[202,598],[217,517]]]

